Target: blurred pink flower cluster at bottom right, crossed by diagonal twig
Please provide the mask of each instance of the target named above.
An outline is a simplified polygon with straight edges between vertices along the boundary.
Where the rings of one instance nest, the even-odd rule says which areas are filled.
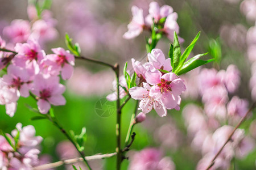
[[[183,109],[183,117],[187,125],[188,135],[192,138],[191,147],[203,155],[197,164],[197,169],[205,169],[216,152],[224,145],[234,127],[221,126],[216,119],[205,117],[203,110],[194,104],[189,104]],[[216,159],[212,169],[228,169],[233,158],[245,158],[254,146],[254,139],[246,135],[245,130],[237,129]]]

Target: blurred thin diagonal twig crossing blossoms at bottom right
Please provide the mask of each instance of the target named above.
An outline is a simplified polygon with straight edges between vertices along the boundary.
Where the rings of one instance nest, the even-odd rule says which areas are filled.
[[[210,162],[209,166],[207,167],[206,170],[209,170],[213,165],[214,165],[214,161],[215,159],[218,157],[218,155],[220,155],[221,151],[223,150],[223,148],[226,146],[226,144],[230,141],[230,139],[232,138],[234,132],[237,130],[237,128],[242,124],[242,122],[245,120],[245,118],[247,117],[247,115],[253,110],[255,103],[251,106],[251,108],[246,112],[245,116],[243,116],[240,120],[240,122],[237,124],[237,126],[233,129],[232,133],[230,133],[228,139],[226,139],[226,142],[224,143],[224,145],[220,148],[220,150],[218,150],[217,154],[214,156],[214,158],[212,159],[212,161]]]

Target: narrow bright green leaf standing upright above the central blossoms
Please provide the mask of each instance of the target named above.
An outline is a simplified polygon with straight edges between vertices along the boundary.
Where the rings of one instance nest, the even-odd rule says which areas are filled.
[[[180,62],[180,56],[181,56],[181,51],[180,51],[180,44],[179,44],[179,39],[177,37],[177,33],[174,32],[174,51],[173,51],[173,56],[172,56],[172,72],[174,72],[177,67],[179,66]]]

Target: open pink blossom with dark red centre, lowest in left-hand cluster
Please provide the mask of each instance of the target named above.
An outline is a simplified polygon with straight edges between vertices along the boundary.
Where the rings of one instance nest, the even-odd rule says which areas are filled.
[[[58,76],[36,75],[32,83],[31,92],[38,96],[37,102],[40,113],[46,114],[52,105],[65,105],[62,96],[65,91],[63,84],[59,84]]]

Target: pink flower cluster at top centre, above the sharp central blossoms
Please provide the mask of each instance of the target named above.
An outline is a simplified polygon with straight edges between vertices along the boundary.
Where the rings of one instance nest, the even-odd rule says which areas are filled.
[[[145,18],[142,8],[133,6],[131,12],[133,19],[128,25],[128,31],[123,35],[125,39],[133,39],[140,35],[143,30],[151,30],[153,25],[158,28],[157,31],[163,32],[171,41],[174,40],[174,31],[179,33],[179,25],[176,22],[177,13],[171,6],[159,7],[157,2],[151,2],[148,9],[149,14]]]

